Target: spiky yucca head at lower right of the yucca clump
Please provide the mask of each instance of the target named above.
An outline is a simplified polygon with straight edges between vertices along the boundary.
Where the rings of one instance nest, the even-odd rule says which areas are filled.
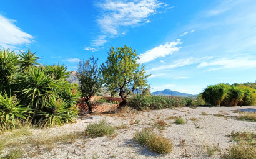
[[[63,125],[65,122],[73,122],[76,115],[76,109],[70,107],[69,102],[51,96],[44,108],[44,124],[47,127]]]

